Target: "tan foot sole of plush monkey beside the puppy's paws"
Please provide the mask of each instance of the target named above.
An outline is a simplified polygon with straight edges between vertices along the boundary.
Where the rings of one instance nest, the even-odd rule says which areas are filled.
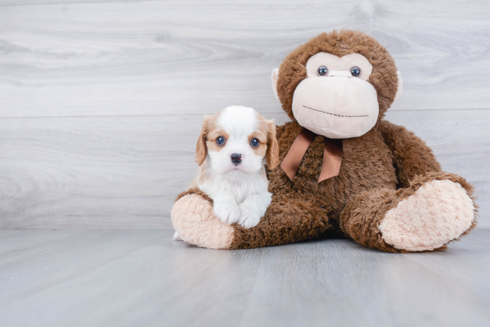
[[[173,204],[172,225],[189,244],[209,249],[229,249],[233,227],[212,214],[212,205],[199,195],[188,194]]]

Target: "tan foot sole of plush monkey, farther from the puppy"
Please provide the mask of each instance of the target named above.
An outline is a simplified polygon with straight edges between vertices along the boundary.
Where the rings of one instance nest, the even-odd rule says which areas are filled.
[[[449,180],[434,180],[386,212],[378,228],[384,242],[396,249],[425,251],[458,238],[473,219],[466,191]]]

